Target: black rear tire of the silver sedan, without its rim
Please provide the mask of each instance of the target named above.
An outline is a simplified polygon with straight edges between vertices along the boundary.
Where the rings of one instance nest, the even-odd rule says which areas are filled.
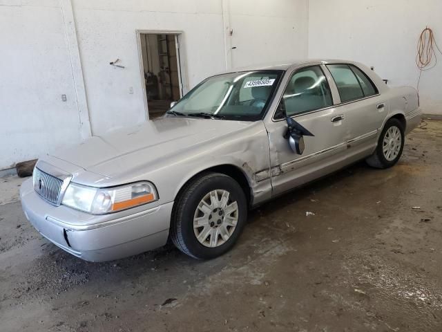
[[[387,158],[385,157],[385,155],[383,153],[384,138],[385,138],[385,134],[387,133],[387,131],[389,131],[389,129],[392,127],[397,127],[401,133],[401,147],[399,149],[399,152],[398,152],[396,158],[394,158],[393,160],[387,160]],[[404,134],[403,124],[398,119],[392,118],[385,123],[385,126],[381,132],[381,135],[379,136],[378,145],[376,146],[376,150],[374,150],[374,153],[372,154],[372,156],[369,156],[367,159],[365,159],[365,162],[369,166],[374,167],[374,168],[385,169],[385,168],[392,167],[392,166],[396,165],[398,160],[401,158],[404,143],[405,143],[405,134]]]

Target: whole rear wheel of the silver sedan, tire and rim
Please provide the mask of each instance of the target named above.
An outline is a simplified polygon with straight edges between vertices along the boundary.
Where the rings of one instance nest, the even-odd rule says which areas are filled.
[[[372,156],[365,161],[371,167],[388,168],[395,165],[401,158],[405,134],[401,121],[393,118],[385,123],[379,136],[378,146]]]

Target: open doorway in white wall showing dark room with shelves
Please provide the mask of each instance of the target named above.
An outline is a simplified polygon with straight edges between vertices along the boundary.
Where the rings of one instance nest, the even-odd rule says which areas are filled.
[[[178,35],[140,33],[148,118],[162,116],[182,96]]]

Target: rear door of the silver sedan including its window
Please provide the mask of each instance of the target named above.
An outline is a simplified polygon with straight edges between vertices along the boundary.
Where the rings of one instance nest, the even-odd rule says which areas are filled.
[[[388,105],[376,85],[353,64],[327,64],[339,93],[338,110],[345,113],[345,140],[348,147],[372,149]],[[353,151],[349,151],[352,154]]]

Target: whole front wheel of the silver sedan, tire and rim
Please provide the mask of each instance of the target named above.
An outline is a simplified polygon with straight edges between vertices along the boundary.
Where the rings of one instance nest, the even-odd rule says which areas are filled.
[[[247,199],[230,176],[206,173],[178,195],[172,213],[171,240],[186,255],[211,259],[230,250],[247,219]]]

